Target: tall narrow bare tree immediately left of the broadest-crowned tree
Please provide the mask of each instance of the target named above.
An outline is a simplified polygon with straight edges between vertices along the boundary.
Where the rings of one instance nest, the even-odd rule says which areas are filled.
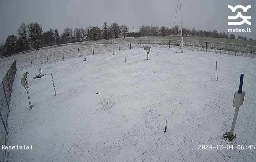
[[[28,50],[28,26],[23,22],[17,31],[19,40],[23,43],[23,50]]]

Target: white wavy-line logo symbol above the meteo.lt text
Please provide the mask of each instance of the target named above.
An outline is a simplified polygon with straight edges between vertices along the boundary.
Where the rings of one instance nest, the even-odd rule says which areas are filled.
[[[235,12],[238,8],[241,8],[243,10],[243,12],[247,12],[247,10],[249,8],[251,8],[251,5],[248,5],[248,6],[243,6],[243,5],[236,5],[235,7],[231,6],[231,5],[228,5],[228,8],[230,8],[232,10],[232,12]],[[251,16],[243,16],[241,14],[241,12],[238,12],[236,16],[228,16],[228,19],[229,20],[235,20],[237,18],[242,18],[243,21],[240,21],[240,22],[228,22],[228,25],[242,25],[244,23],[248,24],[248,25],[251,25],[251,22],[248,21],[248,19],[251,19]]]

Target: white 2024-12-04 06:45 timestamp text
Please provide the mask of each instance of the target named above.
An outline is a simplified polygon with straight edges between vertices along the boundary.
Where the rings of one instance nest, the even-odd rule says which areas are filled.
[[[227,150],[233,150],[233,149],[238,149],[238,150],[255,150],[255,144],[250,144],[250,145],[244,145],[244,144],[238,144],[236,145],[222,145],[222,144],[218,144],[218,145],[209,145],[209,144],[199,144],[198,145],[198,149],[199,150],[212,150],[212,149],[216,149],[216,150],[223,150],[223,149],[227,149]]]

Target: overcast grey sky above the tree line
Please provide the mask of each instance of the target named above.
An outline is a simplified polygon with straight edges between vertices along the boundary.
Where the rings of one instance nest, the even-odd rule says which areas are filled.
[[[18,27],[25,22],[38,22],[43,31],[57,28],[61,34],[66,27],[73,30],[78,27],[98,26],[103,22],[117,22],[129,26],[130,32],[139,26],[167,27],[177,0],[0,0],[0,42],[8,35],[17,35]],[[228,28],[251,28],[251,33],[233,33],[256,39],[256,0],[181,0],[182,25],[188,29],[228,32]],[[228,26],[228,16],[236,13],[228,5],[251,5],[243,16],[251,16],[251,25]],[[176,11],[176,9],[175,9]],[[174,12],[175,15],[175,12]],[[169,27],[173,27],[172,17]],[[237,20],[238,21],[238,20]],[[180,26],[180,10],[175,25]]]

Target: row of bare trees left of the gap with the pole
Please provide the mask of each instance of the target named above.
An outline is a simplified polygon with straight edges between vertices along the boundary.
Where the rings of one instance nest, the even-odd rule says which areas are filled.
[[[102,28],[97,26],[88,26],[85,29],[65,28],[60,35],[55,28],[43,32],[42,26],[37,22],[30,22],[29,24],[22,23],[16,35],[9,35],[5,43],[0,43],[0,56],[13,55],[20,51],[27,51],[30,49],[38,49],[40,47],[58,45],[63,43],[80,42],[84,40],[98,40],[108,39],[112,37],[119,37],[126,35],[129,32],[129,27],[125,25],[119,26],[117,22],[112,22],[110,25],[105,21]]]

